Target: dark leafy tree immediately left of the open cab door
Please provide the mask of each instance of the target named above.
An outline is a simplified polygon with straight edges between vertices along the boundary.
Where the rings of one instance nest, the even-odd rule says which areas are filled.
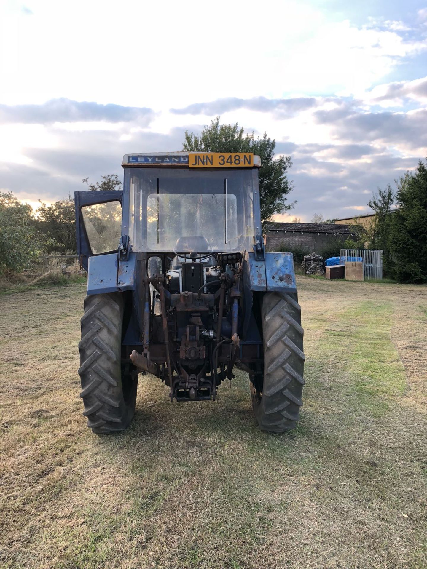
[[[55,201],[51,205],[40,201],[36,213],[37,217],[33,223],[38,232],[46,237],[48,253],[76,250],[75,207],[71,196],[66,200]]]

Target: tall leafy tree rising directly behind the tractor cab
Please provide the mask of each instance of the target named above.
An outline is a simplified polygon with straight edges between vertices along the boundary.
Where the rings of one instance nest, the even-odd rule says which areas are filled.
[[[187,152],[253,152],[261,158],[259,171],[261,220],[269,220],[274,213],[283,213],[294,207],[286,203],[286,196],[293,189],[286,171],[292,166],[290,156],[273,160],[276,141],[267,137],[255,138],[254,133],[245,134],[239,124],[220,125],[220,117],[205,126],[200,136],[186,130],[182,149]]]

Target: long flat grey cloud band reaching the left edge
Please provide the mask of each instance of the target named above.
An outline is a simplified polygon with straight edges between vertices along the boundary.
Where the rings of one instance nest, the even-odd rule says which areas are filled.
[[[146,107],[101,105],[96,102],[72,101],[67,98],[51,99],[41,105],[0,105],[0,123],[138,121],[147,126],[154,118],[154,111]]]

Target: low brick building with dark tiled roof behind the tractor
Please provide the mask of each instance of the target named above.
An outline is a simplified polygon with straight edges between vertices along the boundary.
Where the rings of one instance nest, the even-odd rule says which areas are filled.
[[[266,221],[264,224],[265,246],[269,251],[281,248],[321,251],[334,244],[336,240],[358,237],[354,225],[335,225],[330,223],[280,223]]]

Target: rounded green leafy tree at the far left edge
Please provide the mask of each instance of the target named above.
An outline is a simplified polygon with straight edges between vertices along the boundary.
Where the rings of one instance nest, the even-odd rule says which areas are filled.
[[[42,250],[31,224],[32,209],[13,193],[0,193],[0,274],[19,273]]]

